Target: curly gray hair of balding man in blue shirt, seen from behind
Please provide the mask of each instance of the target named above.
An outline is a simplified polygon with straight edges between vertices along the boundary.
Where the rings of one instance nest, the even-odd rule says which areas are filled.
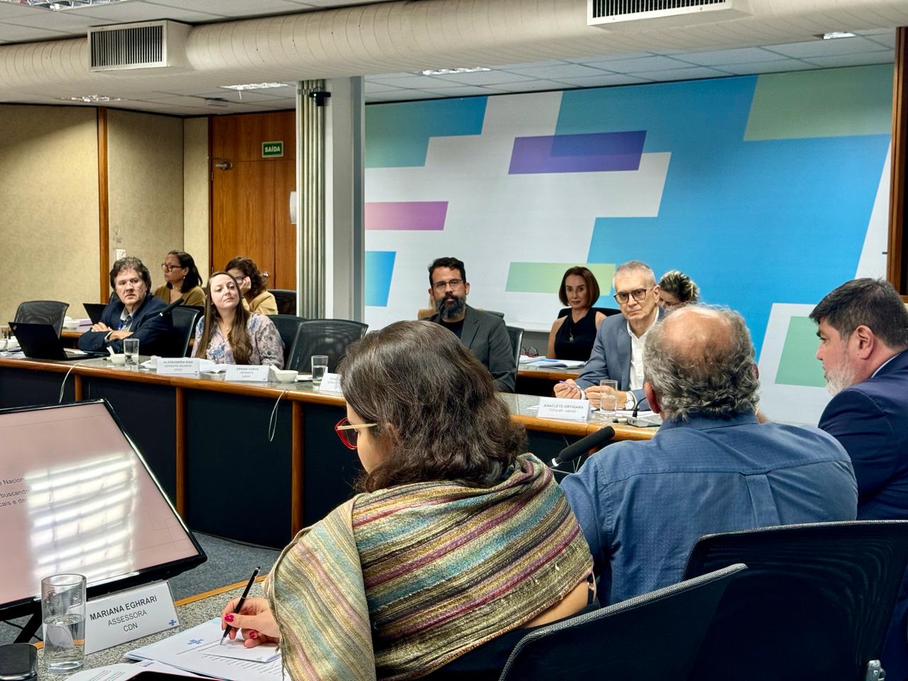
[[[729,333],[689,351],[666,338],[666,321],[679,319],[673,312],[646,334],[646,380],[659,406],[668,418],[682,420],[694,414],[729,418],[755,413],[760,381],[744,318],[733,310],[701,305],[685,308],[696,309],[717,312],[729,325]]]

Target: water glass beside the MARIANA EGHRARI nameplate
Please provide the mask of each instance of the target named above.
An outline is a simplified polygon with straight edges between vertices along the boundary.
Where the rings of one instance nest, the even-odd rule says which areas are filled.
[[[71,672],[85,661],[85,577],[54,575],[41,580],[44,665]]]

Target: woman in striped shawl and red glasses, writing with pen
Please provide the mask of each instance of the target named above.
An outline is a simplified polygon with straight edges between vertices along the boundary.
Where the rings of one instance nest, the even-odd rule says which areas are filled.
[[[498,678],[531,627],[590,607],[592,561],[564,494],[457,336],[399,321],[341,364],[360,494],[301,531],[266,598],[222,626],[280,639],[294,681]],[[231,630],[235,637],[237,629]]]

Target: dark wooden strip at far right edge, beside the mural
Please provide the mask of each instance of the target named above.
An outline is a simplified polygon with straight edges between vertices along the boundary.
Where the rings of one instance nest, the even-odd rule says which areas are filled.
[[[887,278],[908,301],[908,239],[905,239],[905,192],[908,185],[908,26],[895,29],[893,75],[893,152],[889,195]]]

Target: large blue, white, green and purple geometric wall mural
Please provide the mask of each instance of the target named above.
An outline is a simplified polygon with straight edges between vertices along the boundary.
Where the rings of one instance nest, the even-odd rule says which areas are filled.
[[[367,249],[396,255],[367,268],[366,321],[414,318],[426,266],[456,255],[472,304],[548,331],[560,268],[643,260],[741,311],[765,409],[815,420],[828,398],[804,318],[884,273],[891,102],[884,64],[370,105]]]

